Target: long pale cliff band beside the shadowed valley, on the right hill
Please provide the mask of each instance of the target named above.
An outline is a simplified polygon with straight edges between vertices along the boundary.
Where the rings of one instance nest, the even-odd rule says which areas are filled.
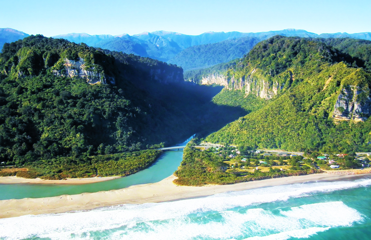
[[[202,77],[201,84],[216,84],[224,86],[228,90],[244,90],[246,96],[253,94],[264,99],[271,99],[283,88],[278,82],[269,83],[267,80],[255,76],[255,73],[256,69],[253,69],[249,75],[238,79],[234,75],[228,78],[223,74],[210,74]]]

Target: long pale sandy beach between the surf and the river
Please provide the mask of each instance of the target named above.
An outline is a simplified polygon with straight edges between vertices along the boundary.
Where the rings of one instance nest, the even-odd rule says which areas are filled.
[[[124,189],[61,195],[44,198],[23,198],[0,200],[0,218],[18,217],[48,213],[91,210],[120,204],[141,204],[146,202],[176,201],[189,198],[205,197],[222,192],[242,191],[264,187],[274,187],[296,183],[318,181],[350,181],[371,174],[329,175],[327,173],[291,176],[238,183],[233,185],[209,185],[203,187],[177,186],[173,183],[174,175],[153,184],[135,185]]]

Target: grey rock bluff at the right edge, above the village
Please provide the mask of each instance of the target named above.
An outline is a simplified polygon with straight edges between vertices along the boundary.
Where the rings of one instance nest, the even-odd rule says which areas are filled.
[[[370,91],[358,86],[344,87],[336,99],[332,117],[335,120],[365,121],[371,113]]]

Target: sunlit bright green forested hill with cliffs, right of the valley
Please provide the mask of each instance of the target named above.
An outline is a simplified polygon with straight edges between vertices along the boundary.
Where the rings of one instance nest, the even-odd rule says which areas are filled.
[[[225,86],[214,97],[218,104],[231,105],[239,99],[234,96],[234,100],[230,91],[248,96],[249,104],[254,98],[260,102],[256,110],[206,140],[286,150],[370,151],[368,62],[323,42],[273,37],[224,73],[203,76],[202,84]],[[348,46],[359,45],[358,40],[331,42],[359,52]]]

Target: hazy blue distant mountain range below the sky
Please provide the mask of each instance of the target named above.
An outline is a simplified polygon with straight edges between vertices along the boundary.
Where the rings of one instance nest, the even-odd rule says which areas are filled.
[[[371,33],[333,33],[315,34],[300,29],[284,29],[260,33],[206,32],[200,35],[185,35],[175,32],[143,32],[130,36],[122,34],[89,35],[71,33],[53,38],[66,39],[88,46],[122,51],[144,57],[151,57],[182,66],[184,70],[205,68],[218,63],[228,62],[246,54],[258,42],[275,35],[303,38],[354,38],[371,40]],[[14,29],[0,29],[0,44],[14,42],[29,36]],[[238,39],[238,40],[237,40]]]

